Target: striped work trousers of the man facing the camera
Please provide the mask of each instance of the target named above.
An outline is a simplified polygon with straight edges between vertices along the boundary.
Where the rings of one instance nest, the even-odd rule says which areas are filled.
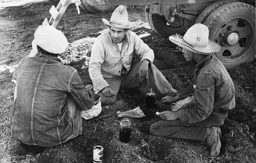
[[[130,89],[138,87],[140,85],[140,79],[138,70],[140,68],[140,62],[134,63],[131,66],[128,74],[122,74],[121,76],[115,76],[114,78],[106,78],[103,74],[103,78],[110,85],[110,88],[113,89],[115,94],[118,93],[119,89]],[[141,80],[142,81],[142,80]],[[143,83],[143,81],[142,81]],[[172,85],[164,78],[163,74],[152,64],[152,67],[148,73],[148,79],[146,84],[154,92],[156,92],[159,97],[164,97],[166,95],[173,96],[177,91],[172,88]],[[167,91],[168,90],[168,91]],[[102,94],[102,91],[98,93],[101,96],[101,105],[111,105],[116,101],[116,96],[107,97]]]

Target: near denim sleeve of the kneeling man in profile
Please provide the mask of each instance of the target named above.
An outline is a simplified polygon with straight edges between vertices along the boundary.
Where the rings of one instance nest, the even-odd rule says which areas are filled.
[[[214,77],[208,73],[197,76],[194,91],[195,106],[191,109],[180,110],[180,120],[187,123],[195,123],[205,120],[213,110],[214,104]]]

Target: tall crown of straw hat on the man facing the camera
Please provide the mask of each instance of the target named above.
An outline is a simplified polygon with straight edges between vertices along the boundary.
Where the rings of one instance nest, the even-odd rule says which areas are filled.
[[[110,18],[110,23],[116,23],[125,26],[129,25],[128,13],[125,6],[119,5],[118,7],[116,7]]]

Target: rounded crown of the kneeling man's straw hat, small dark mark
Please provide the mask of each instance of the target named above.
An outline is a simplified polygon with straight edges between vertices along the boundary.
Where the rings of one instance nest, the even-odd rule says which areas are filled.
[[[186,34],[183,36],[183,40],[193,47],[206,47],[209,41],[208,37],[208,27],[198,23],[187,30]]]

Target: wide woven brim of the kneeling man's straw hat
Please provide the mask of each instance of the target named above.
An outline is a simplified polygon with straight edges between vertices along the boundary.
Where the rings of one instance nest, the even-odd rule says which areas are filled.
[[[191,52],[195,52],[197,54],[212,54],[220,51],[220,45],[209,39],[207,46],[205,47],[192,47],[188,43],[183,40],[183,37],[180,35],[172,35],[169,37],[169,40],[176,45],[183,47]]]

